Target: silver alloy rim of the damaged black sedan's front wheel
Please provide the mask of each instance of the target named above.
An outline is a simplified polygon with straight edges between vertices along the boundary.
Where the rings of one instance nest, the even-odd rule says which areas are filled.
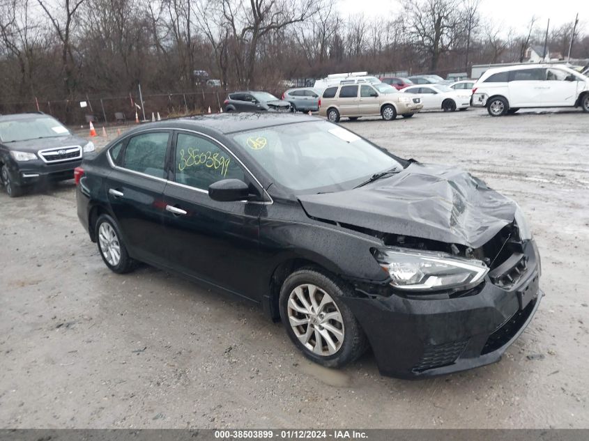
[[[299,285],[289,295],[289,323],[300,343],[316,355],[337,353],[344,343],[344,319],[332,297],[312,284]]]

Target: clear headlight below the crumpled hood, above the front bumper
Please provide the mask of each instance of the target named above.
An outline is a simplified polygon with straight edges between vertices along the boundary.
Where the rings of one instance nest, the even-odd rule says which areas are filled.
[[[468,289],[489,272],[482,261],[442,252],[405,248],[379,250],[376,260],[390,275],[390,284],[411,291]]]

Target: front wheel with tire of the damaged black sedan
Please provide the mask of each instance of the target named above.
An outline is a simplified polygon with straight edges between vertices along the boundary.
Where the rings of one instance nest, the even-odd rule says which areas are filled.
[[[366,335],[341,301],[341,297],[351,295],[351,288],[337,277],[315,268],[302,268],[286,278],[280,290],[280,318],[286,334],[305,357],[322,366],[339,368],[365,352]],[[296,320],[301,323],[296,324]]]

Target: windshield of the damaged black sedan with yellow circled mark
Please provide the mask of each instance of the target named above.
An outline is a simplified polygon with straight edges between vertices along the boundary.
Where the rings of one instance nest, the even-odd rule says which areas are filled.
[[[298,194],[352,189],[401,164],[349,130],[327,121],[265,127],[233,139],[275,183]]]

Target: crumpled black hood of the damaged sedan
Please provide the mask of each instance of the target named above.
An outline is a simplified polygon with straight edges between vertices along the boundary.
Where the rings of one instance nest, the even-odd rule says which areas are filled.
[[[357,189],[298,199],[314,218],[473,248],[513,222],[517,208],[466,171],[419,163]]]

